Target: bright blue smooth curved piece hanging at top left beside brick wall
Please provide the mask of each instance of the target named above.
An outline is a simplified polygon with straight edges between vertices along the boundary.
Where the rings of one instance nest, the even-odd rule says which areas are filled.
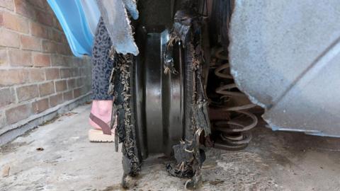
[[[96,1],[47,0],[47,2],[57,16],[73,54],[76,57],[84,54],[91,55],[94,44],[92,32],[94,30],[91,30],[91,26],[93,28],[93,25],[97,25],[101,16]],[[91,11],[84,11],[85,8],[87,10],[91,8]]]

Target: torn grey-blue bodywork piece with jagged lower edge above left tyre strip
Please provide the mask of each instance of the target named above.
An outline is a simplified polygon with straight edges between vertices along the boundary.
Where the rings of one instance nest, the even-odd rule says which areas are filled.
[[[132,18],[138,18],[135,0],[97,0],[101,16],[111,37],[115,52],[134,54],[137,56],[138,47],[132,35],[132,27],[128,11]],[[127,10],[128,9],[128,10]]]

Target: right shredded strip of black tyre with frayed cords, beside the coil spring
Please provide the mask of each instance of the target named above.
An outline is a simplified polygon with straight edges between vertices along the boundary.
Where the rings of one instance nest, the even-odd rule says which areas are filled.
[[[186,181],[187,189],[196,189],[201,183],[201,168],[205,161],[203,145],[200,144],[202,132],[210,134],[210,121],[208,118],[208,99],[205,98],[203,82],[201,78],[201,67],[203,52],[201,50],[200,16],[191,11],[178,11],[175,16],[174,28],[168,44],[169,52],[178,43],[186,51],[187,71],[187,96],[192,96],[191,108],[188,111],[190,122],[186,124],[186,139],[174,146],[176,163],[166,166],[170,175],[179,178],[191,178]],[[167,54],[169,55],[169,53]],[[171,60],[171,59],[166,59]],[[165,63],[165,71],[176,71],[172,69],[171,63]]]

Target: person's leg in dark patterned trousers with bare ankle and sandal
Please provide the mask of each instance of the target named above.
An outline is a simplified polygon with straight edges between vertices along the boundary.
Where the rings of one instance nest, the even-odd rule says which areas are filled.
[[[91,98],[93,102],[89,123],[92,127],[94,127],[94,129],[103,129],[103,126],[106,126],[105,124],[110,125],[111,122],[113,96],[108,95],[108,86],[111,72],[113,69],[113,61],[109,57],[110,50],[111,40],[101,18],[97,26],[96,37],[94,40],[94,48],[92,50],[91,58],[92,62]],[[94,131],[93,129],[90,130],[89,132],[90,141],[109,141],[108,139],[100,140],[100,137],[98,138],[94,136],[95,132],[96,131]],[[103,132],[100,133],[103,134]],[[111,134],[111,136],[113,137],[113,134]],[[95,140],[94,137],[96,137]]]

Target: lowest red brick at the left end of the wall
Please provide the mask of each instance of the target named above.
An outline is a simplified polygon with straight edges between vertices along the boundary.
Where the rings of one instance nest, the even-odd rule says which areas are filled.
[[[6,110],[6,120],[7,124],[13,124],[20,120],[24,120],[31,114],[30,104],[18,105],[16,107]]]

